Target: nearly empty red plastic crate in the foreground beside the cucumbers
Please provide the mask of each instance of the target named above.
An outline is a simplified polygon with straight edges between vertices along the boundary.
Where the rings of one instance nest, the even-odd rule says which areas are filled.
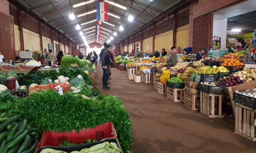
[[[117,138],[112,122],[106,122],[95,128],[80,130],[79,133],[76,133],[75,130],[71,132],[44,131],[37,148],[42,146],[59,146],[66,140],[71,143],[85,143],[87,139],[97,139],[99,141],[106,138]]]

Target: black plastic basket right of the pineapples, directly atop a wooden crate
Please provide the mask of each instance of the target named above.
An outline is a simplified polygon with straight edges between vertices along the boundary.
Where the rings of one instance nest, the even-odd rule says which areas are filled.
[[[212,85],[200,84],[199,90],[207,94],[224,94],[225,93],[224,86],[212,86]]]

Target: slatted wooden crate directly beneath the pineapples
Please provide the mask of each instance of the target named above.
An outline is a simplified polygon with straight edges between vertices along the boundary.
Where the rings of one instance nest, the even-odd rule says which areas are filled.
[[[184,91],[183,102],[184,106],[192,111],[198,111],[200,109],[196,107],[196,103],[200,102],[200,95],[192,95],[189,92]]]

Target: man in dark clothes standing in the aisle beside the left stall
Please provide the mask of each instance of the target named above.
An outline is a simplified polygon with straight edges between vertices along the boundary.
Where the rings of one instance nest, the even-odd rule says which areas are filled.
[[[103,69],[103,77],[102,77],[102,82],[103,82],[103,89],[104,90],[109,90],[110,87],[108,87],[108,79],[110,75],[110,65],[111,65],[111,52],[112,46],[107,45],[106,50],[103,52],[102,57],[101,57],[101,62],[102,62],[102,69]]]

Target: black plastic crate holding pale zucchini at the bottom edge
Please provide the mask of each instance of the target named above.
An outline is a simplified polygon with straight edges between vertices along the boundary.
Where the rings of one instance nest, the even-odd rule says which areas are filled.
[[[54,149],[54,150],[61,150],[61,151],[65,151],[67,153],[70,153],[72,151],[80,151],[84,148],[90,148],[90,147],[92,147],[96,144],[100,144],[100,143],[103,143],[103,142],[115,142],[117,144],[117,147],[119,147],[121,149],[121,153],[123,153],[118,139],[115,139],[115,138],[108,138],[108,139],[103,139],[99,142],[94,142],[94,143],[89,143],[89,144],[79,144],[79,145],[67,146],[67,147],[45,146],[45,147],[38,148],[38,150],[36,150],[35,153],[40,153],[42,150],[44,150],[46,148],[50,148],[50,149]]]

